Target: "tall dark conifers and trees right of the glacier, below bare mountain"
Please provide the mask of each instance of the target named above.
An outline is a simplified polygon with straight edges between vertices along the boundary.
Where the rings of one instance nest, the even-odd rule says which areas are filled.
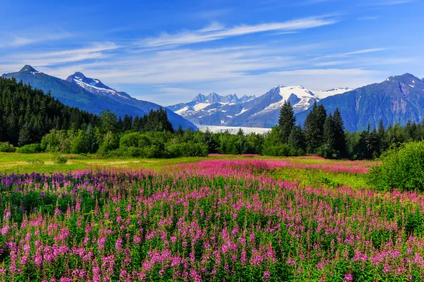
[[[312,106],[303,126],[295,124],[293,107],[290,102],[285,102],[278,125],[269,133],[275,136],[270,151],[278,153],[278,149],[283,151],[281,148],[288,147],[292,151],[318,154],[329,159],[376,159],[389,148],[424,139],[424,121],[408,121],[404,127],[395,123],[384,128],[380,119],[378,128],[371,129],[368,125],[367,130],[347,132],[338,109],[327,113],[325,107],[317,103]]]

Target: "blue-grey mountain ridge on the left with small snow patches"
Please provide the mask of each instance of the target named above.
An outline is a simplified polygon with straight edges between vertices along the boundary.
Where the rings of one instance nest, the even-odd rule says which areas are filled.
[[[100,80],[87,78],[83,73],[78,72],[70,75],[66,80],[62,80],[36,71],[32,66],[26,65],[18,72],[6,73],[2,77],[22,80],[46,93],[50,92],[53,97],[66,105],[76,106],[93,114],[110,110],[122,117],[125,114],[143,116],[148,114],[151,109],[157,110],[162,107],[158,104],[135,99],[126,92],[113,90]],[[174,128],[182,125],[183,129],[192,128],[196,130],[196,125],[182,116],[172,111],[167,111],[167,114]]]

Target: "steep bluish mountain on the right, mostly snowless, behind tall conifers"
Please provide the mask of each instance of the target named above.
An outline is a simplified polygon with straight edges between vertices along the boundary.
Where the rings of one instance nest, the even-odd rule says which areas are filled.
[[[424,79],[410,73],[391,76],[383,82],[326,97],[318,102],[327,112],[336,108],[341,112],[346,130],[366,130],[368,125],[377,128],[380,119],[384,126],[408,121],[420,122],[424,118]],[[296,115],[303,124],[310,108]]]

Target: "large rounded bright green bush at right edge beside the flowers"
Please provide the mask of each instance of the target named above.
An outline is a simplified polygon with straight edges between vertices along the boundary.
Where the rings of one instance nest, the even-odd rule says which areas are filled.
[[[371,168],[369,181],[379,190],[424,190],[424,141],[391,148]]]

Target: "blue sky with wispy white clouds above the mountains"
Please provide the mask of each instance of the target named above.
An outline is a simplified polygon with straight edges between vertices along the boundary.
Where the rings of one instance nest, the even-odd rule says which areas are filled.
[[[80,71],[163,106],[424,78],[424,0],[1,1],[0,73]]]

